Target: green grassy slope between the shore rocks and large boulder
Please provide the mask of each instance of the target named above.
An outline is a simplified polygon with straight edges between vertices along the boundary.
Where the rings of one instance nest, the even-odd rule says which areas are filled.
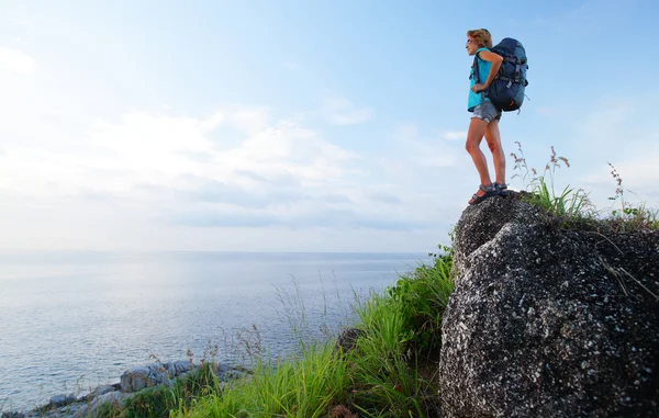
[[[298,353],[269,360],[253,341],[245,346],[255,364],[247,377],[222,384],[206,366],[171,387],[143,391],[121,408],[107,407],[100,416],[436,416],[437,389],[432,375],[420,371],[424,353],[438,355],[442,313],[453,291],[453,249],[439,250],[429,255],[431,266],[421,264],[394,286],[356,303],[360,336],[351,349],[344,351],[334,339],[300,341]]]

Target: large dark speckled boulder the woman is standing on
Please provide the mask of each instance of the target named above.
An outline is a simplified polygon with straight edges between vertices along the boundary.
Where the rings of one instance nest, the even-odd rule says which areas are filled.
[[[446,417],[658,417],[659,233],[468,207],[444,314]]]

